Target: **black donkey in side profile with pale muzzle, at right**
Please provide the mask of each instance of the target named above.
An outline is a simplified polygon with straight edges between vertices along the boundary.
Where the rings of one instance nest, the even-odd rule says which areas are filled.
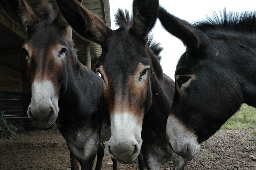
[[[256,107],[256,14],[227,12],[194,25],[159,9],[164,28],[187,47],[175,71],[166,137],[191,160],[242,103]]]

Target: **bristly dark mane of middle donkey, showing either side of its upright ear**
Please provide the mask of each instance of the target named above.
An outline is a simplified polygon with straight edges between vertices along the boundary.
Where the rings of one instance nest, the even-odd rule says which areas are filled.
[[[118,11],[115,13],[115,24],[121,28],[130,27],[132,25],[132,17],[129,15],[129,11],[127,9],[123,11],[118,8]],[[148,37],[147,46],[154,52],[160,62],[162,58],[160,53],[163,51],[161,43],[155,42],[153,40],[153,35],[150,35]]]

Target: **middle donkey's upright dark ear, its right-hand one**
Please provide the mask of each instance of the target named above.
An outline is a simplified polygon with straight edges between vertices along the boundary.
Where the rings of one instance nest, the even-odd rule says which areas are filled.
[[[132,5],[132,31],[147,42],[147,36],[154,27],[159,1],[158,0],[134,0]]]

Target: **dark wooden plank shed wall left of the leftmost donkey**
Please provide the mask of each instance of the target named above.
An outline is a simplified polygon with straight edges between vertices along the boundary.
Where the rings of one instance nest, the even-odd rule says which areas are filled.
[[[30,83],[23,74],[0,65],[0,111],[5,111],[7,122],[18,128],[17,132],[25,130],[27,108],[31,101]]]

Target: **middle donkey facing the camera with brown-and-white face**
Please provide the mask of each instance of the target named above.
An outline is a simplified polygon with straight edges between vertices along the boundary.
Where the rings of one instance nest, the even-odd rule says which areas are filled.
[[[158,1],[134,0],[132,19],[119,9],[117,30],[111,30],[76,0],[56,2],[80,36],[102,47],[97,71],[111,121],[108,154],[121,163],[133,163],[141,152],[147,169],[159,169],[172,159],[175,169],[183,169],[186,160],[170,149],[165,137],[175,83],[146,45],[157,18]]]

